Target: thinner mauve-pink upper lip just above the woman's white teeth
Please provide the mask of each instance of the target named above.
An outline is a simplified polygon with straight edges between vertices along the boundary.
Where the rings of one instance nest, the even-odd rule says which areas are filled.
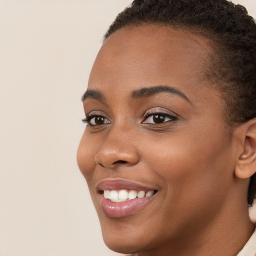
[[[151,185],[144,185],[125,179],[104,179],[97,183],[97,190],[119,190],[119,189],[133,189],[151,191],[158,190],[157,187]]]

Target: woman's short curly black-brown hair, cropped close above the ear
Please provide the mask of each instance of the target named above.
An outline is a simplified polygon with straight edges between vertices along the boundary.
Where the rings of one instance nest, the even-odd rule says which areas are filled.
[[[212,42],[204,75],[226,102],[229,125],[256,117],[256,24],[244,6],[228,0],[134,0],[115,18],[104,40],[125,26],[159,24],[200,34]],[[251,176],[247,202],[256,194]]]

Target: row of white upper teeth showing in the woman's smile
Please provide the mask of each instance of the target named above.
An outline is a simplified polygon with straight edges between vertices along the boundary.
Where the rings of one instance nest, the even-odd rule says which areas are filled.
[[[154,193],[153,190],[151,191],[143,191],[143,190],[140,190],[140,191],[136,191],[136,190],[130,190],[129,192],[127,192],[127,190],[125,189],[121,189],[121,190],[104,190],[103,191],[103,196],[106,198],[106,199],[110,199],[112,202],[123,202],[123,201],[126,201],[127,199],[128,200],[131,200],[131,199],[135,199],[136,197],[138,198],[142,198],[144,196],[146,197],[150,197],[152,196]]]

